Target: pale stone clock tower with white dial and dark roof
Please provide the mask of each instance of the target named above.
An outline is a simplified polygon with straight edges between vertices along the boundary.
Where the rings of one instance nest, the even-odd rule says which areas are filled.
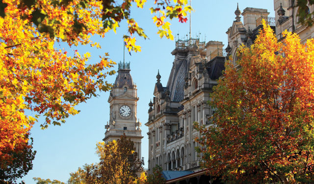
[[[137,89],[130,74],[130,62],[120,62],[118,75],[110,92],[110,119],[105,125],[105,143],[119,139],[123,134],[134,142],[141,159],[141,123],[136,118]]]

